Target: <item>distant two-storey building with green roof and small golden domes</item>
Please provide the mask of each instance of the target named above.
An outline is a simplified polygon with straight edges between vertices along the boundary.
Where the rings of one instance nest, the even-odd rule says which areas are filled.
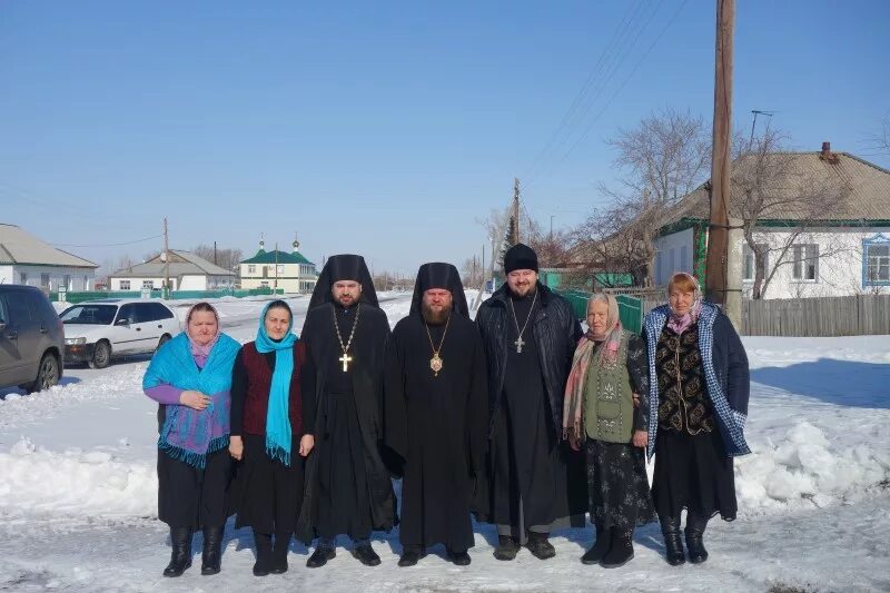
[[[299,253],[299,241],[294,239],[291,253],[265,249],[240,263],[241,288],[279,288],[290,294],[308,294],[315,289],[318,273],[315,264]]]

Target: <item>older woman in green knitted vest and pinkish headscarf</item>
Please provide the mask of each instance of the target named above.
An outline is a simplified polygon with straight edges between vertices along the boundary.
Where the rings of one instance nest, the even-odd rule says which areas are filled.
[[[596,543],[581,562],[605,569],[633,557],[633,532],[655,520],[646,478],[649,379],[645,344],[625,332],[612,295],[587,302],[587,334],[565,387],[564,434],[584,447]]]

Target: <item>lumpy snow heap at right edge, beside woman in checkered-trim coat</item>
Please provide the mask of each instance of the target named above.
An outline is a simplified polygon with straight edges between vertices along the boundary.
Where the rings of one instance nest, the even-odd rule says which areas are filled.
[[[887,435],[853,442],[829,441],[807,421],[794,423],[779,438],[754,444],[751,455],[735,463],[735,492],[743,513],[805,506],[829,506],[858,500],[886,487],[890,480]]]

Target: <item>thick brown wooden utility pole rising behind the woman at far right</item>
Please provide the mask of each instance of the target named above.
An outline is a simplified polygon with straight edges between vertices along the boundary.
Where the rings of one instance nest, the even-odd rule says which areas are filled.
[[[730,136],[732,118],[732,43],[735,0],[716,0],[716,48],[714,71],[714,126],[711,151],[711,220],[705,259],[705,294],[725,305],[729,270]],[[734,283],[738,279],[733,278]],[[741,305],[741,304],[739,304]],[[738,316],[730,319],[738,327]]]

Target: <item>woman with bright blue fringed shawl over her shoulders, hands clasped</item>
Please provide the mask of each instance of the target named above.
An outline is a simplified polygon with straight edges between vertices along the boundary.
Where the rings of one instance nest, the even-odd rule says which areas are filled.
[[[170,526],[172,547],[165,576],[191,566],[198,528],[201,574],[219,572],[231,482],[229,389],[239,347],[219,332],[216,309],[198,303],[186,315],[186,330],[155,354],[142,378],[146,395],[160,405],[158,518]]]

